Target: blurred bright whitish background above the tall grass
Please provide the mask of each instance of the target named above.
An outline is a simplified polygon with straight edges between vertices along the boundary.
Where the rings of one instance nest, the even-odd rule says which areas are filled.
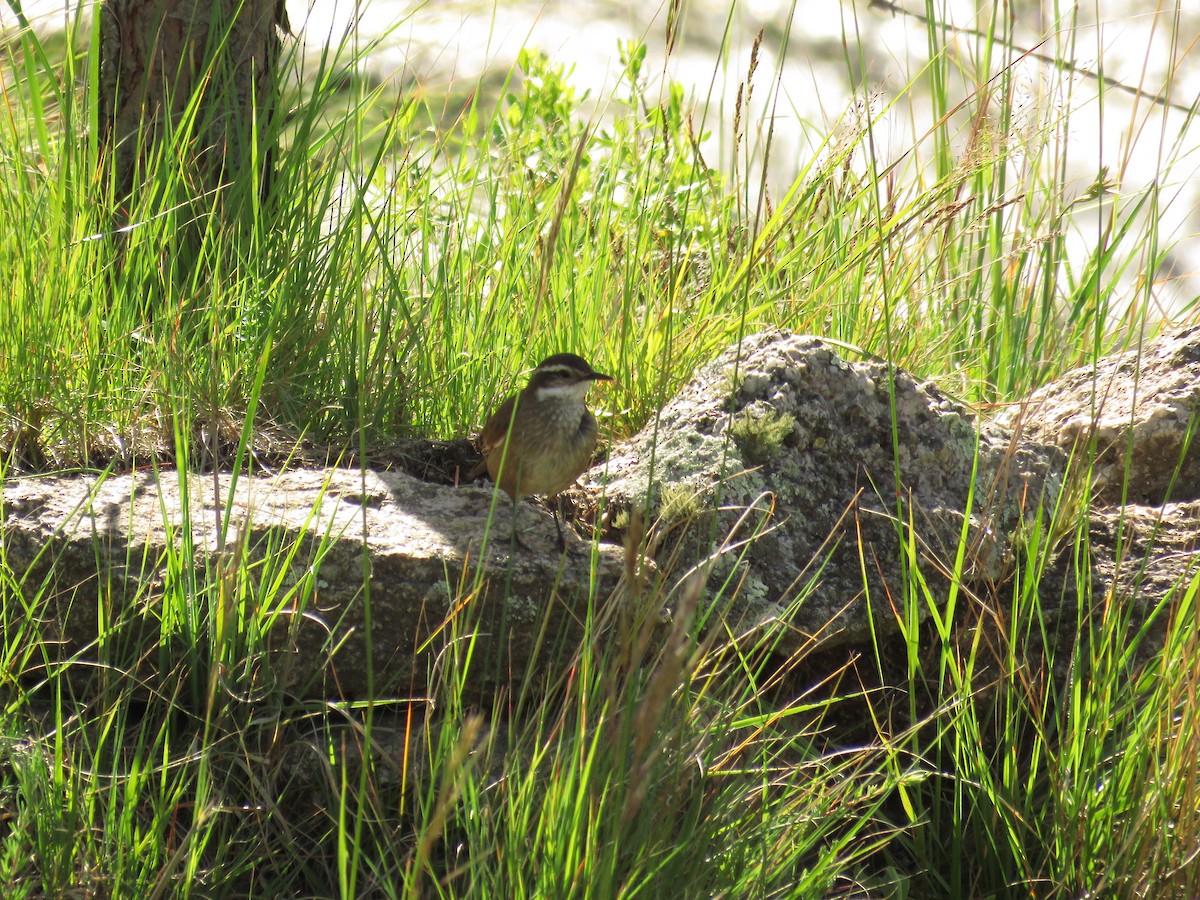
[[[86,14],[91,2],[0,4],[5,29],[17,24],[13,6],[20,6],[36,28],[49,30],[62,28],[80,11]],[[622,72],[619,42],[642,38],[649,47],[644,71],[650,78],[665,76],[691,92],[697,131],[714,136],[703,144],[710,164],[718,160],[727,164],[731,157],[720,142],[731,132],[727,120],[761,30],[755,90],[743,121],[760,132],[766,124],[773,128],[767,182],[780,193],[854,104],[875,115],[884,113],[874,134],[876,152],[884,160],[905,152],[932,125],[934,104],[922,96],[919,84],[916,90],[908,86],[929,59],[923,4],[691,0],[678,22],[668,6],[665,0],[287,4],[306,55],[353,35],[371,48],[365,74],[422,92],[433,104],[442,95],[476,88],[486,92],[490,85],[498,90],[521,48],[529,47],[565,66],[571,84],[588,91],[602,116]],[[1007,58],[986,37],[991,6],[967,0],[935,4],[947,52],[964,60],[966,72],[982,54]],[[1062,148],[1064,190],[1080,197],[1096,194],[1100,182],[1106,192],[1123,196],[1150,186],[1158,190],[1159,234],[1171,250],[1153,274],[1154,296],[1162,316],[1170,318],[1200,294],[1200,125],[1188,113],[1200,97],[1200,6],[1176,2],[1148,10],[1134,0],[1076,5],[1016,0],[1009,14],[1018,46],[1030,50],[1015,65],[1031,116],[1044,118],[1048,108],[1069,116],[1068,146]],[[1103,92],[1103,101],[1102,77],[1114,88]],[[955,96],[952,85],[952,100]],[[751,151],[758,151],[750,158],[761,163],[767,136],[757,134],[757,145],[755,136],[750,138]],[[1169,156],[1174,164],[1164,176],[1163,161]],[[745,180],[756,182],[752,176]],[[1093,227],[1100,229],[1106,215],[1106,204],[1099,203],[1078,216],[1078,232],[1069,235],[1068,246],[1086,254],[1098,239]],[[1130,281],[1130,294],[1134,289]]]

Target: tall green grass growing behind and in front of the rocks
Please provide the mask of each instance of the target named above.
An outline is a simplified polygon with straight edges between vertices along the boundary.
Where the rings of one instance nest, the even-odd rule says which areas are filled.
[[[768,326],[997,403],[1152,328],[1162,194],[1114,194],[1103,172],[1069,194],[1073,108],[1026,102],[1003,7],[967,56],[925,22],[925,68],[886,102],[864,91],[780,196],[745,155],[749,102],[709,125],[743,148],[722,174],[703,98],[652,86],[643,44],[599,113],[530,50],[494,106],[472,92],[448,115],[366,84],[348,38],[289,60],[266,202],[236,182],[193,197],[182,128],[120,210],[89,102],[95,26],[8,35],[0,473],[186,468],[217,444],[245,472],[264,433],[464,436],[562,349],[620,376],[602,400],[616,439]],[[876,136],[907,100],[925,125],[889,157]],[[1097,240],[1069,257],[1088,204]],[[41,644],[48,588],[0,544],[5,895],[1200,895],[1194,574],[1152,648],[1120,598],[1090,594],[1086,508],[1064,505],[1030,526],[1010,586],[964,589],[953,620],[860,661],[900,654],[889,692],[778,634],[728,634],[700,610],[738,586],[646,580],[655,526],[630,530],[632,598],[589,598],[578,647],[482,706],[466,575],[448,574],[430,683],[313,703],[264,641],[313,589],[282,572],[319,547],[251,562],[224,522],[208,557],[185,527],[164,595],[100,572],[106,634],[131,644],[61,664]],[[1060,559],[1080,612],[1056,644],[1039,587]]]

